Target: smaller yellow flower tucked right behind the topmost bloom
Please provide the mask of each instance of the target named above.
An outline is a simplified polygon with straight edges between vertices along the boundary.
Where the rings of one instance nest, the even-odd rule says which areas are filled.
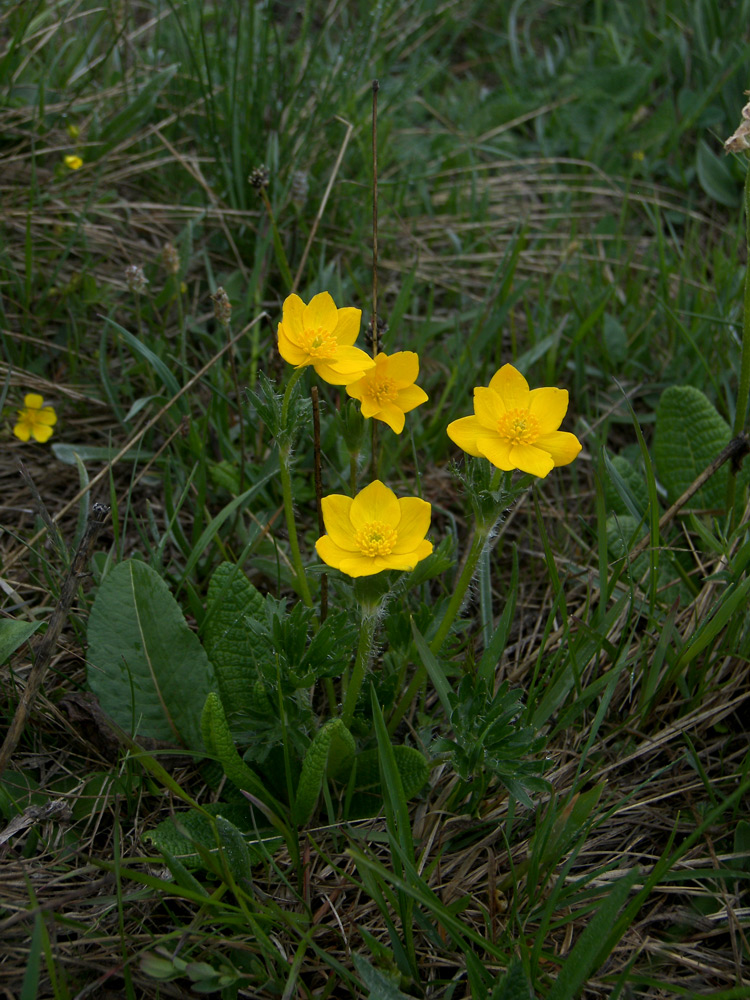
[[[419,357],[414,351],[399,351],[389,357],[382,352],[375,367],[361,379],[347,385],[346,391],[362,404],[362,416],[388,424],[400,434],[404,414],[427,402],[427,393],[414,385],[419,375]]]

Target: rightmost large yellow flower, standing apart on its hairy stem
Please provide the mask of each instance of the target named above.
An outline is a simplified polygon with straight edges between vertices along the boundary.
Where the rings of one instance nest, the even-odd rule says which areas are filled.
[[[557,429],[567,409],[567,389],[529,389],[513,365],[503,365],[489,388],[474,390],[474,416],[449,424],[448,437],[505,472],[546,476],[581,450],[575,434]]]

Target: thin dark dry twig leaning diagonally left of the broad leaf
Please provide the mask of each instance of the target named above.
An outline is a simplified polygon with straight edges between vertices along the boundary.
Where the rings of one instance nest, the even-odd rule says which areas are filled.
[[[11,722],[10,728],[5,736],[2,748],[0,748],[0,774],[2,774],[7,767],[10,756],[21,738],[23,727],[26,724],[26,718],[39,692],[39,688],[42,686],[42,681],[44,680],[44,675],[47,672],[47,667],[52,659],[52,654],[57,646],[57,641],[60,638],[60,632],[62,631],[63,625],[68,617],[68,612],[73,604],[73,598],[78,590],[80,578],[83,576],[85,568],[91,557],[96,536],[104,527],[108,514],[109,507],[107,507],[106,504],[92,504],[89,512],[89,518],[86,522],[86,528],[81,536],[81,541],[78,544],[76,553],[73,556],[70,569],[66,573],[65,579],[63,580],[57,605],[50,615],[47,631],[44,633],[39,643],[35,644],[34,664],[29,672],[26,686],[23,689],[15,715],[13,716],[13,721]]]

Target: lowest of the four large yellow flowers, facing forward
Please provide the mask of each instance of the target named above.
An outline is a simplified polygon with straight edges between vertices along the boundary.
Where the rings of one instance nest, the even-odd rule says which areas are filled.
[[[376,479],[351,497],[323,497],[327,535],[315,543],[323,562],[347,576],[414,569],[432,552],[425,538],[432,507],[419,497],[397,497]]]

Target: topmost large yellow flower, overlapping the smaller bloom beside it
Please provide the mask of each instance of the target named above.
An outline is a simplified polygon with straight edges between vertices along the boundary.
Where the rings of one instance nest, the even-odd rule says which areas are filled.
[[[279,354],[296,368],[312,365],[331,385],[356,382],[375,365],[352,346],[361,319],[361,309],[337,309],[328,292],[315,295],[308,305],[299,295],[290,295],[279,323]]]

